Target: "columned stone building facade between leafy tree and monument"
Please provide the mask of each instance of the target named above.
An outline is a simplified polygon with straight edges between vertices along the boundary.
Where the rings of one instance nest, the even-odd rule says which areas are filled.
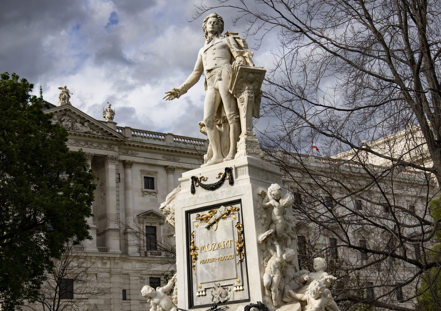
[[[171,264],[176,262],[174,231],[165,223],[160,204],[182,172],[201,165],[206,140],[119,127],[69,103],[49,105],[45,112],[53,113],[52,122],[69,133],[69,149],[81,149],[97,177],[94,216],[87,220],[93,239],[75,250],[91,266],[87,273],[93,284],[87,285],[101,293],[74,294],[73,299],[80,300],[82,310],[149,310],[140,289],[156,287],[164,274],[176,269]]]

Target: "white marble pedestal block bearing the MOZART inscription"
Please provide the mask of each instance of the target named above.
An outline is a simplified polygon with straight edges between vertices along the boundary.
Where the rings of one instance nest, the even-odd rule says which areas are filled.
[[[231,167],[231,173],[220,187],[206,190],[198,185],[198,181],[221,183],[225,167]],[[265,247],[258,239],[268,224],[261,221],[262,197],[258,193],[272,183],[282,185],[280,169],[243,156],[185,172],[179,182],[182,190],[175,200],[179,308],[206,310],[218,303],[236,310],[262,301],[274,310],[262,282]],[[291,248],[296,249],[295,241]],[[281,305],[282,293],[279,296]]]

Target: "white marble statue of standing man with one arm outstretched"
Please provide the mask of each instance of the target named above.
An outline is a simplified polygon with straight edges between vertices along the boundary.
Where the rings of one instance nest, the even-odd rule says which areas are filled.
[[[237,33],[227,31],[224,36],[224,20],[216,13],[204,18],[202,29],[205,32],[206,43],[199,50],[198,59],[193,73],[179,87],[165,92],[166,100],[179,98],[187,93],[202,73],[205,73],[206,97],[204,101],[204,120],[213,155],[202,166],[229,161],[235,157],[237,142],[241,132],[239,115],[237,113],[237,100],[230,93],[228,87],[231,80],[232,69],[240,64],[254,66],[251,58],[253,52],[248,49],[247,42]],[[224,154],[220,130],[224,126],[219,124],[226,117],[229,124],[229,150]],[[224,152],[223,152],[224,151]]]

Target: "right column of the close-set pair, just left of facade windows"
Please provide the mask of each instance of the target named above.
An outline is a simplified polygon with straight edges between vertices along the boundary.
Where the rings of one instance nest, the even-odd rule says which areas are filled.
[[[127,253],[131,256],[139,256],[138,241],[133,223],[133,189],[132,189],[132,166],[133,161],[124,160],[124,205],[125,205],[125,224],[124,240],[127,245]]]

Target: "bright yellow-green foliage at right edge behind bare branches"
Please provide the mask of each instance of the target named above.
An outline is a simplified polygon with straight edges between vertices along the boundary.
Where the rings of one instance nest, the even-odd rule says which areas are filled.
[[[441,218],[441,199],[430,202],[430,214],[434,219]],[[438,265],[422,274],[420,286],[417,289],[420,310],[437,311],[441,307],[435,297],[441,297],[441,231],[434,232],[434,247],[421,256],[422,261],[434,261]]]

